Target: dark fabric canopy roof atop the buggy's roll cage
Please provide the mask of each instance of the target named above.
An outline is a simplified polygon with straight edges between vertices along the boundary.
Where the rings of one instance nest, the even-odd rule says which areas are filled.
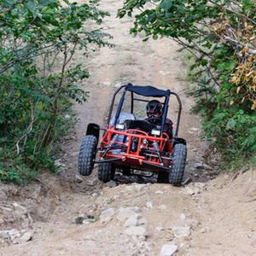
[[[159,90],[153,86],[138,86],[138,85],[132,85],[127,84],[126,90],[131,90],[132,92],[135,92],[142,96],[153,96],[153,97],[164,97],[170,95],[170,90]]]

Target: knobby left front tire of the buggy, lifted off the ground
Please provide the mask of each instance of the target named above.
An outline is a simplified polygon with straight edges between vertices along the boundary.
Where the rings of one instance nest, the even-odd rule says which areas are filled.
[[[94,167],[96,157],[97,139],[93,135],[84,137],[79,153],[79,173],[89,176]]]

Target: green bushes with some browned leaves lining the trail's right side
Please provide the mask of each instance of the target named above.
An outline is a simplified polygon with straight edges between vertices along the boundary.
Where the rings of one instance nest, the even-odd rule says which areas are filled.
[[[256,159],[256,3],[253,0],[126,0],[118,16],[135,15],[131,33],[172,38],[200,68],[193,110],[205,136],[237,168]]]

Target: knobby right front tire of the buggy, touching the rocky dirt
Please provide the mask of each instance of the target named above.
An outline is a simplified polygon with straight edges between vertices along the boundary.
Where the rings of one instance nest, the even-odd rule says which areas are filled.
[[[169,183],[180,185],[183,180],[183,174],[187,158],[187,147],[184,144],[176,144],[172,152],[172,165],[169,172]]]

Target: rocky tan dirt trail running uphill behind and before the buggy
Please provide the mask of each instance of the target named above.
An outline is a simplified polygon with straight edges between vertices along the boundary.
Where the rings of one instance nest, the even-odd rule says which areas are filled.
[[[44,174],[43,183],[26,188],[0,183],[0,255],[171,255],[163,247],[174,255],[256,255],[256,174],[214,178],[209,166],[195,169],[204,163],[207,142],[200,140],[199,121],[189,113],[193,100],[185,95],[186,84],[177,79],[183,72],[177,44],[168,39],[142,43],[143,36],[129,35],[129,18],[115,19],[121,1],[101,4],[112,15],[102,26],[116,46],[75,60],[89,69],[83,86],[90,98],[74,107],[80,120],[63,141],[59,175]],[[181,97],[179,135],[188,143],[188,185],[136,177],[102,184],[96,168],[83,181],[76,177],[87,124],[105,124],[113,91],[128,82],[171,89]],[[171,102],[174,122],[176,108]],[[84,219],[89,215],[95,218]]]

